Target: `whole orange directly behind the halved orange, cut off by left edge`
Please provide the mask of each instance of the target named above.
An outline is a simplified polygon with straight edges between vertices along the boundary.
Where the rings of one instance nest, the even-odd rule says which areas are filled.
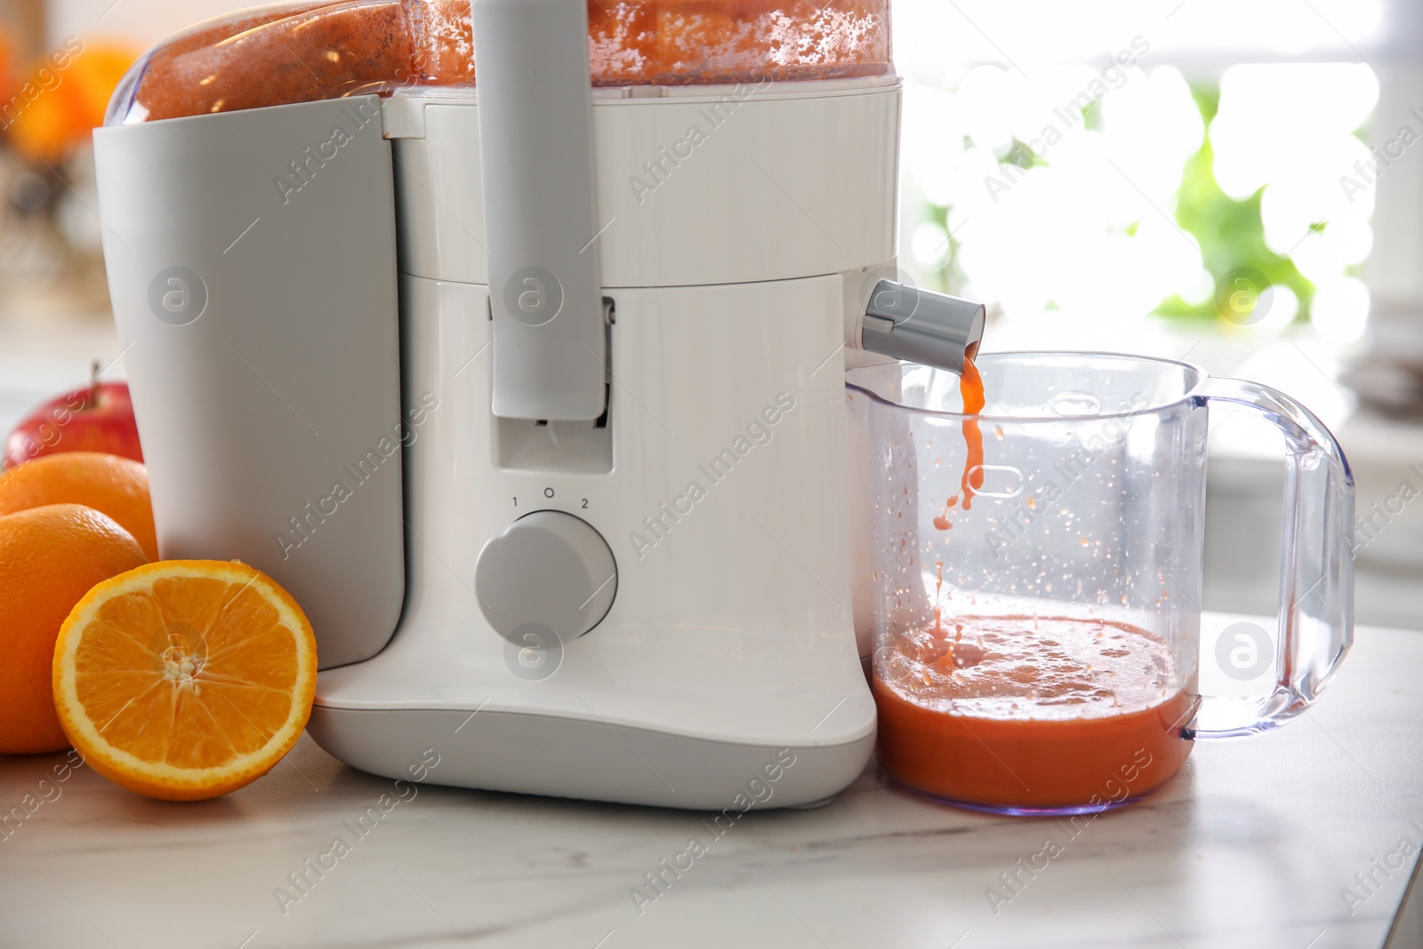
[[[95,582],[144,562],[112,518],[77,504],[0,516],[0,753],[70,747],[50,684],[60,625]]]

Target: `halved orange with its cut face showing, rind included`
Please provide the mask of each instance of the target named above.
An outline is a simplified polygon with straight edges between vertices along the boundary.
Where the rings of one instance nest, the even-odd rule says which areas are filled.
[[[164,561],[104,580],[54,645],[54,704],[85,764],[169,801],[270,771],[314,696],[306,615],[238,562]]]

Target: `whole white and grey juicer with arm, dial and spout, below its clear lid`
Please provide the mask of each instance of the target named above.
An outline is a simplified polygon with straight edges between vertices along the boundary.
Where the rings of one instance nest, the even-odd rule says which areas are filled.
[[[357,768],[721,810],[777,765],[767,807],[825,800],[875,733],[845,350],[959,369],[983,323],[878,276],[899,83],[592,88],[583,0],[472,18],[478,87],[154,121],[145,58],[115,95],[162,555],[292,592],[309,730]]]

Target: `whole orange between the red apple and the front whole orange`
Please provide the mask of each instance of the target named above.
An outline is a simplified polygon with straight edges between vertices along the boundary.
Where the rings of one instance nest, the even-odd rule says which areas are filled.
[[[138,461],[68,451],[33,458],[0,475],[0,515],[46,504],[83,504],[102,511],[134,535],[149,561],[158,559],[148,470]]]

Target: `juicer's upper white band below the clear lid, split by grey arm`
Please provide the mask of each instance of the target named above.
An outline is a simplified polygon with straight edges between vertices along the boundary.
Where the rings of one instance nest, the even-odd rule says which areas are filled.
[[[858,286],[861,267],[894,258],[896,78],[613,91],[593,95],[605,287],[825,273]],[[477,102],[468,90],[386,102],[403,273],[488,285]]]

